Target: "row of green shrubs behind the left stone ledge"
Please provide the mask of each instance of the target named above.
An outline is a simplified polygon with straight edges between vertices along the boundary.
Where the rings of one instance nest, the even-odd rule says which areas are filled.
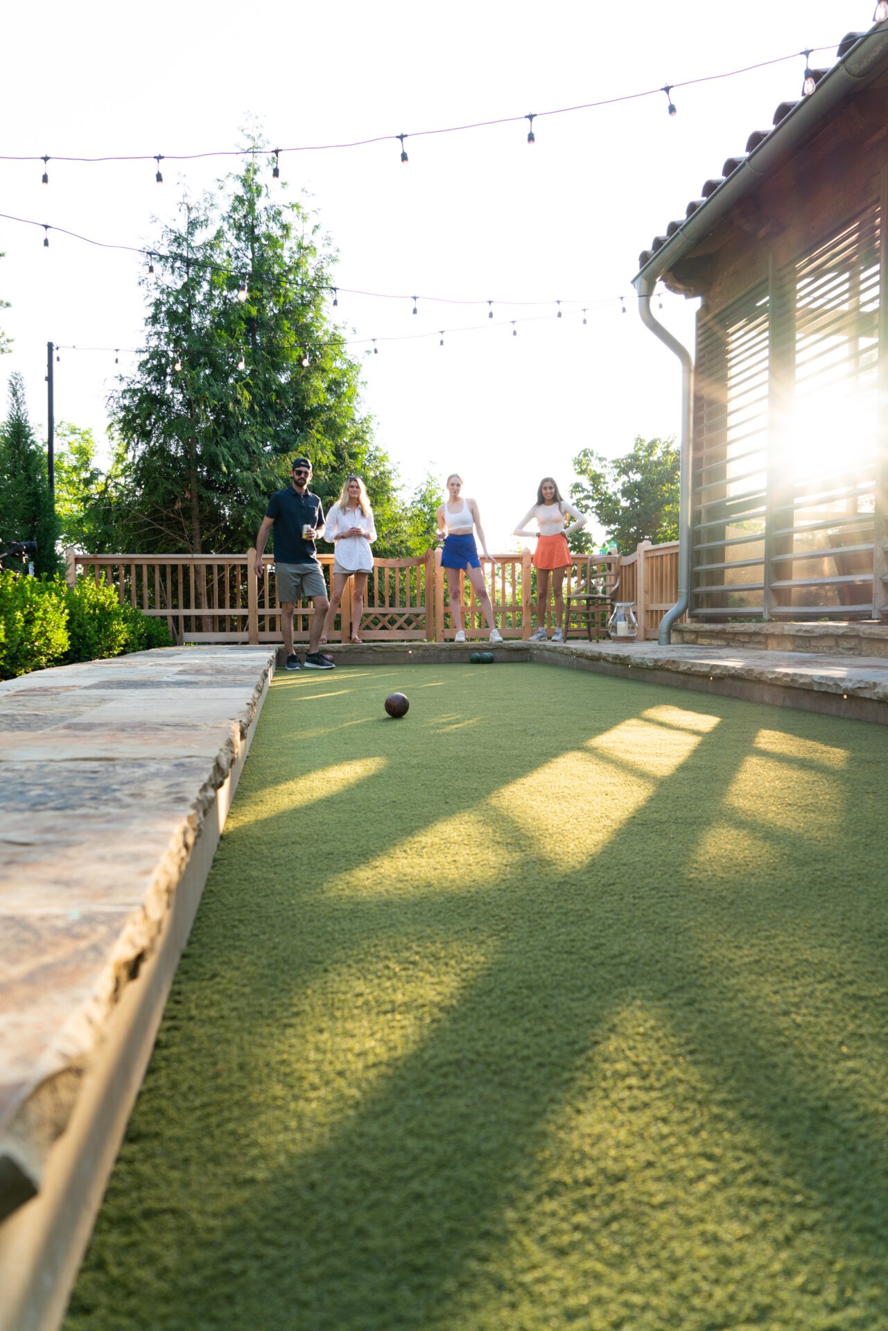
[[[166,622],[121,606],[113,587],[0,570],[0,679],[170,646]]]

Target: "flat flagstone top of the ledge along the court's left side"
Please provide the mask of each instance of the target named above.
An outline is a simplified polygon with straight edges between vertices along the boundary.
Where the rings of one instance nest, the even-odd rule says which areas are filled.
[[[273,668],[270,647],[168,648],[0,683],[0,1221],[40,1193],[206,832],[214,849]]]

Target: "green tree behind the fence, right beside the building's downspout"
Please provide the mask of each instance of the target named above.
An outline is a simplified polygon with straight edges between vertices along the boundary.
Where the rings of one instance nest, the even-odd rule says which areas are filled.
[[[622,551],[635,550],[640,540],[678,540],[679,450],[674,438],[636,435],[631,453],[612,459],[583,449],[574,458],[574,470],[582,479],[571,486],[571,498],[595,514]]]

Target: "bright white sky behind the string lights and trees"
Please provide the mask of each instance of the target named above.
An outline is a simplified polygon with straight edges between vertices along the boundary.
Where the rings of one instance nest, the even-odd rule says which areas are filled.
[[[638,317],[638,256],[754,129],[771,125],[780,101],[799,96],[800,52],[823,47],[811,64],[831,65],[847,32],[871,27],[872,9],[873,0],[16,5],[4,16],[0,212],[150,248],[185,197],[214,189],[237,162],[165,160],[158,185],[152,160],[52,158],[230,152],[248,125],[286,149],[385,136],[284,152],[286,194],[338,250],[330,313],[354,339],[363,406],[406,490],[459,471],[490,550],[514,550],[511,528],[543,475],[567,494],[580,450],[614,458],[636,435],[678,435],[679,365]],[[576,106],[586,109],[546,114]],[[525,118],[425,133],[531,112],[533,145]],[[48,185],[43,162],[8,160],[44,153]],[[280,188],[270,165],[269,182]],[[57,232],[48,249],[43,240],[41,225],[0,217],[0,298],[11,302],[0,327],[15,339],[0,389],[23,374],[45,437],[47,342],[108,349],[61,350],[55,365],[56,421],[103,441],[114,375],[134,363],[122,349],[141,346],[144,261]],[[691,347],[695,306],[668,291],[662,311],[654,303]]]

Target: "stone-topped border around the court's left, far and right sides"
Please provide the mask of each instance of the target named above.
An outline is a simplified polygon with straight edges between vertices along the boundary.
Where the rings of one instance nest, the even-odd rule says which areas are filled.
[[[330,651],[445,664],[475,646]],[[888,724],[885,658],[582,642],[494,656]],[[0,684],[4,1331],[64,1316],[274,663],[273,646],[169,648]]]

